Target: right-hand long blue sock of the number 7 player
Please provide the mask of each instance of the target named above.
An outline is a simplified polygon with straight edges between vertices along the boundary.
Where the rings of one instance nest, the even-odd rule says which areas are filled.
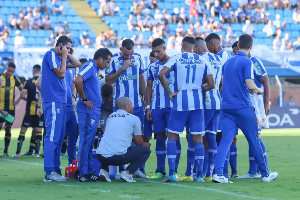
[[[213,133],[206,133],[205,134],[207,143],[208,143],[208,168],[206,172],[206,177],[212,176],[214,172],[214,165],[216,163],[216,155],[217,155],[217,140],[216,135]]]

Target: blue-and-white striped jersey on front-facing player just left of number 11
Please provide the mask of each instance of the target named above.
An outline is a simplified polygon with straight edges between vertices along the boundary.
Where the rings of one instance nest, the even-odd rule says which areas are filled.
[[[166,61],[167,62],[167,61]],[[173,103],[170,100],[167,92],[165,91],[164,87],[161,85],[160,80],[158,79],[158,72],[161,70],[161,68],[164,67],[164,64],[160,61],[156,60],[149,64],[148,67],[148,80],[153,81],[153,94],[152,94],[152,101],[151,101],[151,108],[152,109],[161,109],[161,108],[172,108]],[[166,76],[169,87],[172,92],[174,92],[174,71],[169,73]]]

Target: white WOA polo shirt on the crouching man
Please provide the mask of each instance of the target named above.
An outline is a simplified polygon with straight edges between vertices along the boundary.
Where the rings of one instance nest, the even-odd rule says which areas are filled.
[[[103,137],[96,154],[108,158],[126,154],[134,135],[142,135],[140,119],[125,110],[113,112],[106,121]]]

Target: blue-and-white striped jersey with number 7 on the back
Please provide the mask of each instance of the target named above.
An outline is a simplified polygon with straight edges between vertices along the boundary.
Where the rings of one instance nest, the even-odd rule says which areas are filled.
[[[209,91],[206,91],[205,100],[203,105],[205,109],[220,110],[222,105],[222,98],[219,92],[219,85],[222,77],[222,66],[224,61],[222,58],[214,53],[204,52],[200,54],[211,64],[212,73],[214,74],[215,88]]]

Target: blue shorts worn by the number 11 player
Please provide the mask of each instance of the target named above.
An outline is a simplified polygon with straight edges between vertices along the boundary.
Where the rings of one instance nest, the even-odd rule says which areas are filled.
[[[190,129],[190,134],[205,134],[204,110],[171,111],[168,123],[170,133],[182,134],[186,124]]]

